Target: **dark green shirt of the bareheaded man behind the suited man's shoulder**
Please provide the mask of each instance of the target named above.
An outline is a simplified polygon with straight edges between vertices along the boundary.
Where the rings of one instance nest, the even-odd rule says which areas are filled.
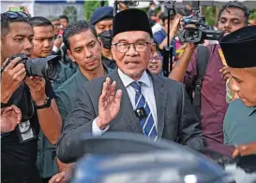
[[[110,74],[113,71],[105,66],[104,68],[107,71],[107,74]],[[78,68],[77,72],[57,89],[55,100],[64,122],[67,120],[68,114],[74,106],[77,90],[87,81],[88,79],[83,77],[80,68]]]

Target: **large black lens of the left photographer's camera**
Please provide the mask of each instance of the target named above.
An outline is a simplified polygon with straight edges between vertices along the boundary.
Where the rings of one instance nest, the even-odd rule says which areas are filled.
[[[60,63],[57,55],[46,58],[28,59],[25,68],[28,76],[54,79],[60,71]]]

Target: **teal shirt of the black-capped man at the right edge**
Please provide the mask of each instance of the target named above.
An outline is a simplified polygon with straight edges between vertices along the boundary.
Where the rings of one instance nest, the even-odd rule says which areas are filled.
[[[256,106],[245,106],[240,99],[233,101],[229,105],[224,119],[224,143],[241,145],[255,142],[255,129]]]

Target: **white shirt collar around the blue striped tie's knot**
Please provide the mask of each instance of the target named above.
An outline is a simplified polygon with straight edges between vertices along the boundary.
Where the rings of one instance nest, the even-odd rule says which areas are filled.
[[[125,87],[128,87],[130,83],[132,83],[134,80],[131,77],[128,77],[126,74],[124,74],[119,68],[117,69],[118,75],[123,81]],[[146,87],[151,87],[151,82],[149,76],[146,74],[146,71],[143,72],[143,76],[138,80],[139,82],[142,82],[143,85]]]

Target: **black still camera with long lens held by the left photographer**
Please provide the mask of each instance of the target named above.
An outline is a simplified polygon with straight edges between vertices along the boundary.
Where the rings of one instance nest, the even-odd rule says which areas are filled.
[[[61,68],[59,58],[57,55],[51,55],[46,58],[31,59],[23,53],[18,53],[12,55],[12,57],[8,59],[8,62],[1,68],[1,74],[8,66],[8,63],[10,63],[17,57],[22,58],[22,60],[19,63],[24,64],[25,71],[28,77],[44,77],[48,80],[54,80],[54,78],[59,73]]]

